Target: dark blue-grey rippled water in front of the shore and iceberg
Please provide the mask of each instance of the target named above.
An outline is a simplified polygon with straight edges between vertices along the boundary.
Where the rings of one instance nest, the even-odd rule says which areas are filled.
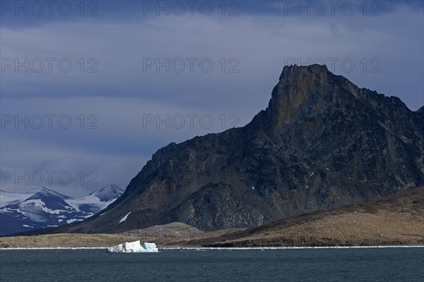
[[[424,248],[0,250],[0,281],[424,281]]]

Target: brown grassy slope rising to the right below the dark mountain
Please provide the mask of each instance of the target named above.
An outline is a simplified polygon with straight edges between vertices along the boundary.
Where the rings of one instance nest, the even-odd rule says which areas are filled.
[[[215,238],[205,247],[424,245],[424,187],[379,200],[312,212]]]

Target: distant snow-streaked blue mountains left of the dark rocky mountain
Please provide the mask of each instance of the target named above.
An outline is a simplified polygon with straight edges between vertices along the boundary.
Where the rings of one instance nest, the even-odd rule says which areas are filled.
[[[0,190],[0,235],[83,221],[112,204],[124,190],[109,185],[73,198],[45,187],[25,193]]]

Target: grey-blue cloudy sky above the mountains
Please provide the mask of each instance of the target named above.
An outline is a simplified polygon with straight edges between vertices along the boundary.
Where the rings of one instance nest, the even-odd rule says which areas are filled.
[[[283,66],[424,105],[423,1],[0,1],[1,190],[126,188],[243,126]]]

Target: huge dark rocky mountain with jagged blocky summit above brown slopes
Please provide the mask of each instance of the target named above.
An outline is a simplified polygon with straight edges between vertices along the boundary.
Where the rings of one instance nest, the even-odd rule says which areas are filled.
[[[159,149],[102,216],[61,232],[258,226],[424,185],[423,159],[423,108],[326,66],[285,66],[251,123]]]

